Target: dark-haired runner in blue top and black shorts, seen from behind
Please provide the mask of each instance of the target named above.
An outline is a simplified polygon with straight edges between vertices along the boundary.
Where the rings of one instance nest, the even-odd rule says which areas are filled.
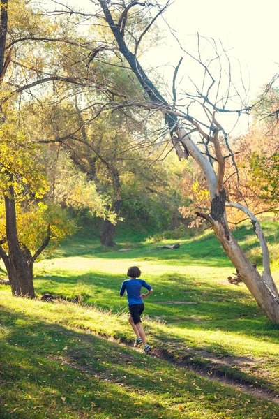
[[[142,300],[148,297],[153,289],[143,279],[137,279],[140,277],[141,273],[142,272],[140,272],[140,269],[137,266],[129,267],[127,277],[130,277],[130,279],[123,281],[119,295],[120,297],[123,297],[125,291],[127,291],[128,306],[130,310],[129,323],[136,335],[134,346],[144,344],[144,353],[148,353],[151,351],[151,346],[146,342],[146,336],[144,329],[142,328],[140,316],[144,311],[144,302]],[[141,294],[142,286],[148,290],[148,293]]]

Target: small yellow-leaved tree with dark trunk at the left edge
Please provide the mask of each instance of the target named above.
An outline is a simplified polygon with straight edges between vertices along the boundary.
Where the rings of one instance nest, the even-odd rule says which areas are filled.
[[[10,115],[8,111],[5,122],[1,125],[0,135],[0,255],[8,271],[13,295],[34,297],[33,262],[50,240],[50,226],[47,225],[46,237],[43,236],[44,229],[36,232],[41,242],[39,249],[36,249],[32,256],[29,244],[22,242],[17,229],[17,210],[20,209],[22,215],[19,215],[21,225],[27,226],[29,215],[26,208],[24,211],[24,207],[29,200],[36,202],[43,198],[47,182],[42,174],[42,166],[36,159],[36,145],[27,143],[24,133],[17,127],[15,116]],[[36,204],[33,207],[36,207]],[[31,249],[36,247],[35,242],[38,244],[38,237]]]

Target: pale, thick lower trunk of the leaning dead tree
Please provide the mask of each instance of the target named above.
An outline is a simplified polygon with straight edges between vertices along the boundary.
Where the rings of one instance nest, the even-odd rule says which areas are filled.
[[[190,155],[193,156],[193,159],[195,159],[202,168],[211,193],[210,215],[200,213],[197,213],[197,215],[204,217],[211,223],[216,237],[220,244],[222,244],[223,249],[232,261],[236,270],[239,271],[241,279],[257,301],[257,304],[259,304],[259,307],[273,323],[279,323],[279,295],[276,284],[271,276],[269,250],[259,221],[257,221],[256,217],[246,207],[243,207],[243,205],[226,202],[225,189],[223,189],[222,182],[220,182],[220,179],[223,177],[222,173],[220,174],[220,170],[218,170],[218,175],[216,176],[213,167],[209,161],[206,160],[205,156],[199,152],[197,145],[195,145],[190,138],[190,135],[187,135],[184,130],[178,131],[177,134],[183,145],[187,147]],[[216,147],[218,147],[218,145]],[[218,152],[216,154],[218,154]],[[222,164],[220,166],[222,166]],[[222,170],[223,169],[221,169],[221,171]],[[252,263],[250,263],[248,258],[246,258],[245,253],[229,230],[225,209],[226,205],[236,207],[250,216],[255,234],[259,238],[259,243],[262,247],[264,265],[264,272],[262,275]]]

